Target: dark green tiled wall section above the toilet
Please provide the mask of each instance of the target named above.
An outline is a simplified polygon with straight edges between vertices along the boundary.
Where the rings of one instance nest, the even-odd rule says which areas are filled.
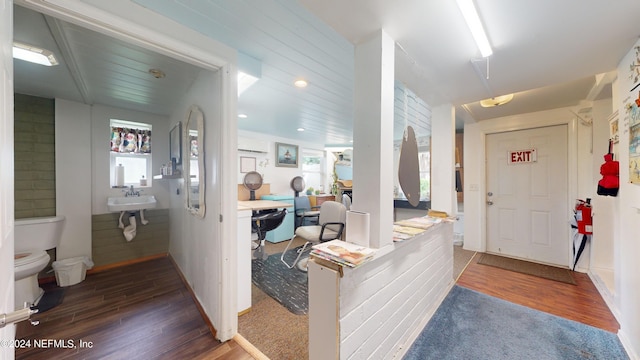
[[[15,94],[15,217],[56,214],[55,102]]]

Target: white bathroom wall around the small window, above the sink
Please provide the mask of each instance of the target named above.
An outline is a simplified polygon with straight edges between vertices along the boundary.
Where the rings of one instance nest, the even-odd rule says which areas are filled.
[[[160,173],[162,164],[169,161],[169,130],[174,123],[169,122],[167,116],[155,115],[126,109],[119,109],[105,105],[93,105],[91,107],[91,148],[92,148],[92,180],[93,180],[93,214],[105,214],[107,198],[111,196],[123,196],[122,189],[111,187],[110,163],[109,163],[109,136],[111,119],[135,121],[151,124],[151,154],[153,157],[151,170],[153,174]],[[68,146],[74,146],[70,142]],[[159,209],[169,207],[169,188],[162,181],[148,179],[149,187],[142,188],[142,194],[155,195]]]

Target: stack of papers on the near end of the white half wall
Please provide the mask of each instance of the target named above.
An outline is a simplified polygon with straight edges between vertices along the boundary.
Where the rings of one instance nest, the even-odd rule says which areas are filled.
[[[314,245],[311,256],[354,268],[371,260],[375,252],[375,249],[365,246],[342,240],[331,240]]]

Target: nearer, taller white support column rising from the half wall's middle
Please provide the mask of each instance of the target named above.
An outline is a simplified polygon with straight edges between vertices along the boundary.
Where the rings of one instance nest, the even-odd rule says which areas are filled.
[[[394,51],[384,30],[355,49],[352,209],[370,214],[373,248],[393,242]]]

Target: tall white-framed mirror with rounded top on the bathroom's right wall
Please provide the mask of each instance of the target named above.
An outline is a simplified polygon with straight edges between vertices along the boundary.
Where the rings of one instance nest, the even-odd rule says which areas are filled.
[[[185,206],[193,215],[204,217],[204,115],[200,108],[192,105],[187,112],[183,131],[185,180]]]

